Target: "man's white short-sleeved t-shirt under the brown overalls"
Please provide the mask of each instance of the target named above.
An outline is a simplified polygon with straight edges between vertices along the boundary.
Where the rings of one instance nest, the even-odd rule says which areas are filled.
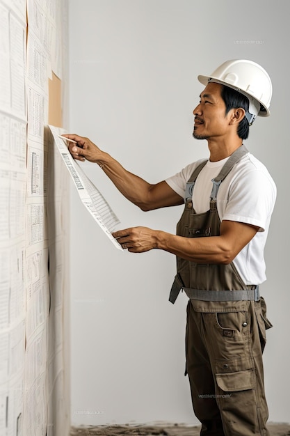
[[[193,189],[193,208],[209,210],[211,180],[218,176],[228,158],[207,162]],[[189,164],[180,173],[166,179],[168,185],[184,197],[186,182],[201,160]],[[243,156],[221,182],[217,196],[220,221],[239,221],[259,227],[259,232],[234,258],[234,265],[246,285],[259,285],[266,280],[264,246],[276,198],[276,187],[268,170],[250,153]]]

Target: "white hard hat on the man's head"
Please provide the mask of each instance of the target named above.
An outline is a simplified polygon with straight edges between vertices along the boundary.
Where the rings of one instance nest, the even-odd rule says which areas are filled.
[[[233,59],[222,63],[210,76],[198,76],[207,85],[210,81],[223,84],[242,93],[250,102],[247,114],[249,124],[256,116],[269,116],[272,97],[272,83],[268,73],[258,63],[245,59]]]

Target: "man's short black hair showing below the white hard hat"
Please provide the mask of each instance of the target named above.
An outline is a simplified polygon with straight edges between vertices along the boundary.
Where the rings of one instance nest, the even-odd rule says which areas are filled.
[[[245,109],[247,112],[249,110],[249,100],[245,95],[239,93],[233,88],[229,88],[229,86],[222,86],[222,90],[220,91],[220,95],[225,102],[225,114],[230,111],[230,109],[238,109],[241,107]],[[245,116],[239,122],[237,134],[241,139],[247,139],[249,136],[249,123]]]

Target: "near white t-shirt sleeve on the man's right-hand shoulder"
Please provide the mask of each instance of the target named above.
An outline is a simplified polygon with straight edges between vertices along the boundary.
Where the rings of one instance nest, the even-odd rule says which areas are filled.
[[[245,177],[237,177],[229,189],[223,220],[239,221],[264,231],[271,217],[276,198],[276,187],[271,177],[257,169]]]

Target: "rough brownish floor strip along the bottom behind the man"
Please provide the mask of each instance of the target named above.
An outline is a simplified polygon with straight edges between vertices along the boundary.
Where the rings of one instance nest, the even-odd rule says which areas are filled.
[[[271,436],[289,436],[290,424],[269,423]],[[72,428],[70,436],[200,436],[200,427],[170,426],[89,426]]]

